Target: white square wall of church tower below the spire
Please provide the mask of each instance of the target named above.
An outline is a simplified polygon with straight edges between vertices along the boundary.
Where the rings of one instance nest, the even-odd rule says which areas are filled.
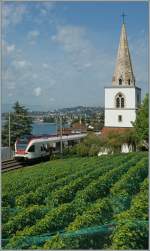
[[[116,107],[116,96],[122,94],[124,107]],[[140,104],[140,89],[137,87],[105,88],[105,127],[133,127]],[[121,116],[121,120],[119,120]]]

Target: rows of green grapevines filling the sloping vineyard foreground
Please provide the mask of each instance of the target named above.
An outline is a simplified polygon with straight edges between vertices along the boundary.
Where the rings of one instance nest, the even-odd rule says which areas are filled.
[[[3,174],[3,247],[146,249],[147,176],[147,153],[140,152],[54,160]]]

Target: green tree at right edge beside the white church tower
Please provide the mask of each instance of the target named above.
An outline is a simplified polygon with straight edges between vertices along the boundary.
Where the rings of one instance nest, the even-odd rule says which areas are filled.
[[[149,138],[149,124],[148,124],[148,104],[149,98],[146,94],[143,103],[141,104],[135,122],[133,123],[135,128],[135,137],[139,146],[144,146],[148,149]]]

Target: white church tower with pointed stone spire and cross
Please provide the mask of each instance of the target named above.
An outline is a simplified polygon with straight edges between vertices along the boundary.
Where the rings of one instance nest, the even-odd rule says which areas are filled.
[[[135,82],[123,15],[112,86],[105,87],[104,131],[133,127],[140,103],[141,89]]]

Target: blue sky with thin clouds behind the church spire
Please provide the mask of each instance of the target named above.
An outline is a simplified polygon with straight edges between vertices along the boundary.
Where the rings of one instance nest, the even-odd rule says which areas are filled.
[[[142,97],[148,92],[148,2],[7,2],[2,6],[2,105],[104,106],[122,25]]]

